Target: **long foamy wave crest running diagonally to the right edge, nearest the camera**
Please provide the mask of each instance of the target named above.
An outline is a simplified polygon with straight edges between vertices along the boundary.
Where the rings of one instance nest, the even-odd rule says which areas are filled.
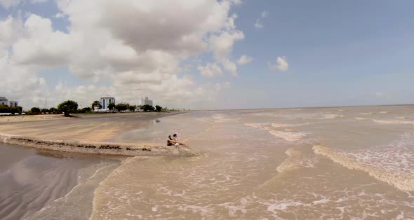
[[[330,158],[330,160],[333,160],[333,162],[347,167],[348,169],[367,172],[371,177],[384,181],[402,191],[414,191],[414,176],[412,174],[387,172],[387,170],[359,162],[352,156],[347,156],[345,153],[339,153],[326,146],[315,145],[312,149],[314,150],[314,153],[326,156]]]

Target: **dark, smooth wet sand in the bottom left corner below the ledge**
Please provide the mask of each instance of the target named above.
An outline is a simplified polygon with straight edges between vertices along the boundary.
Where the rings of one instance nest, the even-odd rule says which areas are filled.
[[[67,195],[100,165],[121,158],[100,158],[0,144],[0,219],[26,219]]]

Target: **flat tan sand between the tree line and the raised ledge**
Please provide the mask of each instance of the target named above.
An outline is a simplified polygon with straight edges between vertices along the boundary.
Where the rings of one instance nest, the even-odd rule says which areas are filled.
[[[126,130],[146,128],[156,118],[178,113],[78,114],[0,117],[0,132],[38,139],[103,142]],[[9,121],[8,121],[9,120]]]

